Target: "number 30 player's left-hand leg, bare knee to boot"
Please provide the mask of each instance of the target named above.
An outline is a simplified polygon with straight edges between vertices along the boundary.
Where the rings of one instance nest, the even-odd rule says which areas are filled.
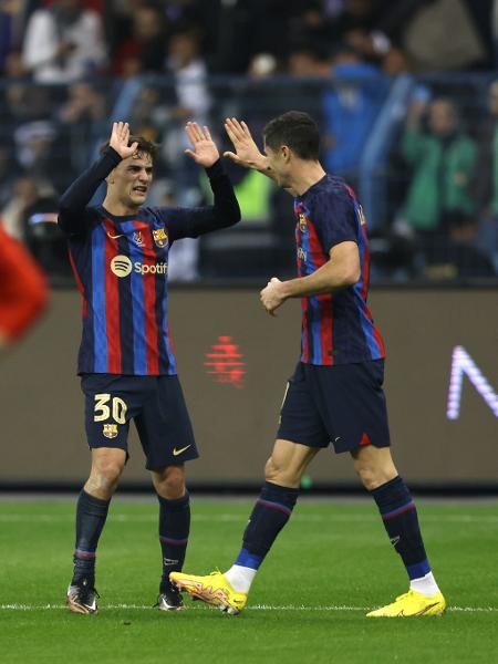
[[[96,611],[96,549],[125,463],[124,449],[92,449],[92,469],[76,504],[74,570],[68,591],[68,605],[75,613]]]

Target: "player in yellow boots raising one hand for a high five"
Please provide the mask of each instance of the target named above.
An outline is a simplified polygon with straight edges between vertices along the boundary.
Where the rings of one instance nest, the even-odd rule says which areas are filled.
[[[390,452],[384,392],[384,343],[366,305],[369,241],[352,189],[319,162],[319,132],[305,113],[291,111],[263,129],[262,155],[248,126],[226,121],[237,164],[272,177],[294,196],[298,279],[273,277],[261,291],[272,315],[301,298],[301,359],[289,381],[280,428],[266,466],[266,483],[225,573],[174,573],[179,589],[228,613],[239,613],[251,582],[289,520],[301,477],[330,443],[349,453],[375,500],[409,578],[409,589],[369,616],[439,615],[446,602],[424,549],[415,504]]]

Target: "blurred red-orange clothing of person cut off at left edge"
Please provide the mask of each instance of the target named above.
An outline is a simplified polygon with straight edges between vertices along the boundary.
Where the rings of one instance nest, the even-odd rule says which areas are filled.
[[[17,342],[46,307],[42,271],[0,224],[0,351]]]

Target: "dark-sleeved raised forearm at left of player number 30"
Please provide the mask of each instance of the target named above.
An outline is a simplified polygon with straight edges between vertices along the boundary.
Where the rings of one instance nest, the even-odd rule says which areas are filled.
[[[112,147],[107,148],[98,162],[82,173],[64,191],[59,201],[59,224],[64,230],[71,230],[71,218],[84,211],[100,184],[120,162],[121,156]]]

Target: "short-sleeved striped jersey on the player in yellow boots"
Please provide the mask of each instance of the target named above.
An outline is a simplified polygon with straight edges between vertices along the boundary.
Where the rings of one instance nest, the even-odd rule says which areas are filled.
[[[301,362],[333,365],[385,357],[382,336],[366,305],[370,252],[362,207],[339,177],[325,175],[294,199],[298,274],[312,274],[335,245],[354,241],[361,277],[332,294],[302,298]]]

